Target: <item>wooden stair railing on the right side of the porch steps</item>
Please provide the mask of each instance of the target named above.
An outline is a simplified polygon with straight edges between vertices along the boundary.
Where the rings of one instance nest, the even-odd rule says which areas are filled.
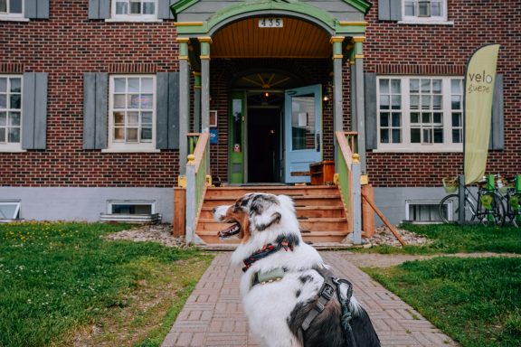
[[[336,131],[336,184],[342,195],[353,243],[362,244],[362,197],[360,161],[356,150],[356,132]]]

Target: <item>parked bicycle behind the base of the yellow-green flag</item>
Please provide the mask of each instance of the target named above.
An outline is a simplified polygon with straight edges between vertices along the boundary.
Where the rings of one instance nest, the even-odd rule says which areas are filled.
[[[505,222],[505,209],[503,198],[497,193],[497,176],[489,174],[485,180],[478,182],[478,196],[470,192],[465,186],[465,202],[463,204],[465,222],[477,222],[483,225],[502,226]],[[454,180],[452,180],[454,182]],[[447,192],[456,192],[457,186],[446,184]],[[455,188],[455,189],[454,189]],[[440,219],[444,223],[457,223],[459,221],[459,193],[451,193],[441,199],[438,207]]]

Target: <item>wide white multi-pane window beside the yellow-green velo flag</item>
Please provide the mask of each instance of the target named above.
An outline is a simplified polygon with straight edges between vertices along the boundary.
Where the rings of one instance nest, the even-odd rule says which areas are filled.
[[[462,79],[378,77],[378,149],[462,149]]]

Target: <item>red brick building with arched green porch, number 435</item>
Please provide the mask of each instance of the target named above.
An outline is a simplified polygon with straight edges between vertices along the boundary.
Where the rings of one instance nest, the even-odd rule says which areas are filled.
[[[308,182],[358,133],[389,219],[462,172],[463,76],[499,43],[488,173],[520,171],[512,0],[0,0],[0,218],[161,213],[189,133],[225,183]]]

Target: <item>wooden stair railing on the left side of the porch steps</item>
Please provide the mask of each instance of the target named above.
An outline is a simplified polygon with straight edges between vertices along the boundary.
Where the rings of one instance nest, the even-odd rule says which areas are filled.
[[[204,193],[207,187],[207,174],[209,172],[208,152],[209,133],[190,133],[188,136],[188,149],[190,154],[186,163],[186,244],[201,243],[201,239],[195,235],[197,216],[201,211]]]

